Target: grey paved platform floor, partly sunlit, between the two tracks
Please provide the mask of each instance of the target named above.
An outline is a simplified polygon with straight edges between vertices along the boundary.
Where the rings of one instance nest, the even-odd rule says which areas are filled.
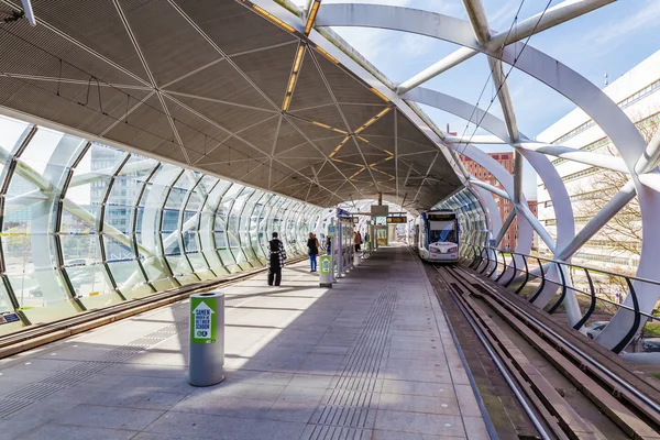
[[[300,263],[227,294],[227,378],[185,381],[188,304],[0,361],[1,439],[488,439],[407,248],[332,289]]]

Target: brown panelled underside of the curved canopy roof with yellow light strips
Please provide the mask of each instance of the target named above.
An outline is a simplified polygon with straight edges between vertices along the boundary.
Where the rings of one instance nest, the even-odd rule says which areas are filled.
[[[361,61],[373,74],[349,72],[256,4],[32,4],[36,26],[0,31],[4,113],[323,207],[382,193],[424,209],[463,185],[420,111],[373,88],[375,69]],[[0,1],[1,13],[13,10],[19,1]],[[314,34],[351,52],[331,32]]]

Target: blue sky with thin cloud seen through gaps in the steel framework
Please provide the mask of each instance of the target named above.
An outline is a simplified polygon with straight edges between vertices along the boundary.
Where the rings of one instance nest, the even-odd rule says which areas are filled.
[[[323,3],[348,0],[323,0]],[[543,11],[548,0],[482,0],[488,24],[495,31],[507,31],[522,7],[518,21]],[[305,0],[294,0],[304,4]],[[360,3],[383,3],[406,8],[422,9],[468,20],[461,0],[359,0]],[[552,0],[550,7],[561,0]],[[531,36],[529,44],[559,62],[576,70],[598,87],[605,85],[605,74],[609,81],[641,63],[660,50],[657,26],[660,23],[660,0],[618,0],[578,19],[551,28]],[[394,82],[403,82],[429,67],[459,46],[436,38],[386,31],[359,28],[333,28],[349,44],[383,72]],[[653,32],[656,31],[656,32]],[[508,67],[505,67],[508,72]],[[488,79],[490,67],[485,55],[477,55],[454,68],[429,80],[424,87],[442,91],[476,105],[484,90],[479,107],[486,109],[495,95],[495,87]],[[550,127],[575,106],[557,91],[526,74],[513,69],[507,84],[518,128],[530,139]],[[459,134],[471,135],[474,125],[449,113],[422,106],[436,124],[444,130],[447,124]],[[490,111],[502,117],[497,100]],[[476,134],[485,134],[477,130]],[[510,150],[503,145],[481,145],[485,151]],[[525,167],[525,194],[536,199],[536,173],[529,164]]]

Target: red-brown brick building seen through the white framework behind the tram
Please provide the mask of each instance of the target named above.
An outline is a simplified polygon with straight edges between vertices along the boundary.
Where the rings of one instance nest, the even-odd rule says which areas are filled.
[[[504,166],[504,168],[507,172],[509,172],[510,174],[514,173],[514,153],[513,152],[488,153],[488,155],[491,157],[493,157],[495,161],[497,161],[502,166]],[[491,173],[488,173],[486,170],[486,168],[484,168],[483,166],[481,166],[480,164],[477,164],[470,157],[461,156],[461,158],[462,158],[463,165],[465,165],[465,168],[468,169],[468,172],[470,174],[472,174],[474,177],[476,177],[480,180],[483,180],[487,184],[491,184],[493,186],[502,188],[502,185],[499,185],[497,179],[495,179],[495,177]],[[497,196],[494,196],[494,198],[495,198],[495,201],[497,202],[497,207],[499,208],[499,215],[502,216],[502,221],[504,222],[506,217],[514,209],[514,206],[510,200],[503,199],[502,197],[497,197]],[[527,204],[529,206],[529,210],[535,216],[538,216],[537,201],[528,200]],[[506,234],[504,235],[504,239],[502,240],[501,249],[513,251],[516,249],[517,241],[518,241],[518,220],[514,219],[512,226],[509,227],[508,231],[506,231]],[[536,250],[535,243],[536,243],[536,240],[532,242],[532,250]]]

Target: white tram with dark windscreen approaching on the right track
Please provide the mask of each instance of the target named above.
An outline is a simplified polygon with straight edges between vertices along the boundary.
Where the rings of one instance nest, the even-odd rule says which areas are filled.
[[[428,262],[459,261],[459,218],[454,211],[431,210],[413,223],[413,248]]]

